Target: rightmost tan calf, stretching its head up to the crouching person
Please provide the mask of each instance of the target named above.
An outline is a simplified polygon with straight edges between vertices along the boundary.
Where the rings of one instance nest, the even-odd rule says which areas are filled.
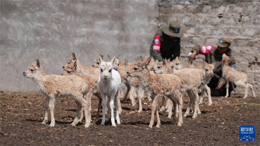
[[[231,68],[228,65],[228,60],[229,57],[226,54],[222,55],[222,67],[223,67],[223,77],[226,79],[227,84],[226,84],[226,88],[227,88],[227,94],[226,94],[226,98],[228,97],[228,87],[229,87],[229,82],[231,82],[231,85],[233,87],[234,93],[235,93],[235,87],[234,87],[234,83],[236,86],[244,86],[246,88],[245,91],[245,96],[243,99],[247,98],[247,91],[248,91],[248,87],[251,89],[251,92],[253,94],[253,97],[256,97],[254,89],[253,89],[253,85],[250,83],[247,83],[247,75],[243,74],[241,72],[236,71],[235,69]]]

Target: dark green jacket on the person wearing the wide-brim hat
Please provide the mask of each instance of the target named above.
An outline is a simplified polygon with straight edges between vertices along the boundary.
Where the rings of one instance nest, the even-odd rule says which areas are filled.
[[[156,40],[156,38],[158,38],[158,40]],[[157,50],[154,49],[155,45],[157,45]],[[150,57],[156,58],[158,61],[163,61],[164,58],[170,58],[170,60],[172,61],[177,56],[180,57],[180,51],[181,38],[170,39],[169,35],[163,33],[163,28],[160,28],[156,32],[150,47]]]

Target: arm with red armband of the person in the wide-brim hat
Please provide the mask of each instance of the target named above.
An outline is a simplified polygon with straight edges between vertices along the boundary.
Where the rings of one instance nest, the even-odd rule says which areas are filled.
[[[160,50],[161,50],[160,35],[156,34],[150,46],[150,57],[157,59],[159,62],[163,61]]]

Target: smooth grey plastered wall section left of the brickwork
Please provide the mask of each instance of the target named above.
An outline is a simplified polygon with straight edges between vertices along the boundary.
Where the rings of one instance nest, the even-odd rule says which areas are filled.
[[[101,53],[121,61],[149,55],[157,31],[156,1],[1,1],[1,91],[37,91],[23,77],[39,59],[61,74],[75,52],[85,66]]]

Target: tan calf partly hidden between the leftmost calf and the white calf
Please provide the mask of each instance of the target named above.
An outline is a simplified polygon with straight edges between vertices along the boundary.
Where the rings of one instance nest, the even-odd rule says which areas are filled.
[[[77,62],[74,62],[73,64],[70,64],[70,65],[67,65],[65,67],[62,75],[74,75],[74,76],[82,77],[85,80],[85,83],[87,85],[87,89],[86,89],[87,94],[85,96],[85,100],[88,102],[88,107],[89,107],[88,116],[91,119],[91,95],[94,94],[99,99],[99,105],[98,105],[98,110],[97,110],[97,114],[96,114],[96,118],[98,118],[99,113],[100,113],[101,103],[102,103],[102,97],[100,95],[99,88],[97,86],[99,75],[97,75],[97,74],[80,75],[77,72]],[[80,114],[79,122],[81,122],[82,119],[83,119],[83,108],[81,108],[81,114]]]

